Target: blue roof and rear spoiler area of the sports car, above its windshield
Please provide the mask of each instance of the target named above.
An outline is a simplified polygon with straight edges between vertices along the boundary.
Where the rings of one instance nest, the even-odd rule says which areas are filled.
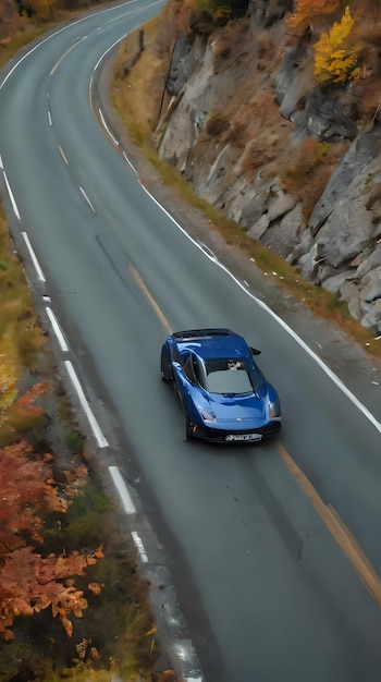
[[[242,357],[249,354],[243,337],[230,329],[190,329],[172,334],[180,351],[193,350],[204,358]]]

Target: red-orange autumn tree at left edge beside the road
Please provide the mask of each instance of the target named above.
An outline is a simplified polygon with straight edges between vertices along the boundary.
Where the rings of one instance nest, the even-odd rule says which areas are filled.
[[[70,617],[81,618],[87,608],[73,576],[85,575],[87,567],[102,557],[101,548],[86,553],[62,551],[61,556],[36,550],[44,545],[44,514],[64,513],[74,495],[72,477],[65,495],[59,492],[51,459],[37,456],[25,440],[0,450],[0,634],[5,640],[13,638],[15,617],[48,607],[70,636]],[[77,470],[76,484],[85,473],[84,467]],[[94,593],[100,589],[96,583],[88,587]]]

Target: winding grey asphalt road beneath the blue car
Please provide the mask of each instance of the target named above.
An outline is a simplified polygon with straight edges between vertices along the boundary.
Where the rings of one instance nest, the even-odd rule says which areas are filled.
[[[310,331],[300,342],[263,304],[258,272],[233,277],[150,198],[89,96],[102,54],[160,7],[90,14],[2,72],[9,222],[36,297],[49,296],[67,340],[62,361],[110,443],[100,456],[137,473],[139,513],[163,547],[204,679],[378,682],[381,401],[371,363],[362,372],[348,349],[346,390]],[[170,329],[202,326],[231,327],[262,349],[283,405],[278,441],[185,441],[160,346]],[[341,357],[334,369],[346,367]]]

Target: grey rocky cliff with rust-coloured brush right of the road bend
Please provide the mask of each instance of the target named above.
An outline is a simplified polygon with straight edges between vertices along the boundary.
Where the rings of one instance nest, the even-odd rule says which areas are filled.
[[[199,196],[380,334],[381,124],[369,78],[376,90],[380,81],[368,64],[362,81],[320,86],[314,41],[290,45],[292,9],[251,0],[245,17],[177,37],[158,149]]]

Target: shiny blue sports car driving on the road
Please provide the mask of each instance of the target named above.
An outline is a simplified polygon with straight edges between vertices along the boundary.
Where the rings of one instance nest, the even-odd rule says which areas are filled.
[[[275,389],[256,364],[257,351],[230,329],[176,331],[161,350],[161,378],[185,413],[186,438],[258,442],[281,428]]]

